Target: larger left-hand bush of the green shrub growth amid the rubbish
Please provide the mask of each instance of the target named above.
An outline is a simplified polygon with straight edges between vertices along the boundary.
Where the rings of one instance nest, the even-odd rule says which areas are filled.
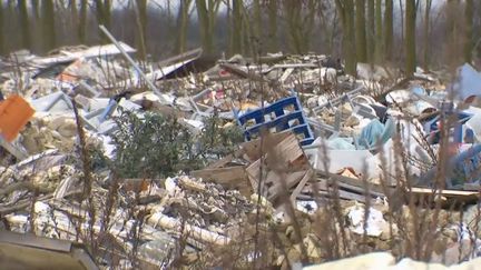
[[[121,110],[115,121],[114,167],[120,177],[167,177],[199,167],[194,137],[177,119],[150,112],[140,118]]]

